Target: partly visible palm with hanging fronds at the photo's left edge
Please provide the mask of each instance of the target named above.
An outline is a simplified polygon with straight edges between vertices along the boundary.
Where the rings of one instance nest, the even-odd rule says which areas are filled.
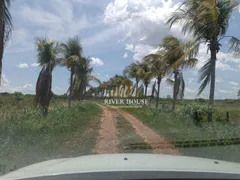
[[[4,47],[11,36],[13,29],[12,17],[9,11],[11,0],[0,1],[0,85],[2,80],[2,60]]]

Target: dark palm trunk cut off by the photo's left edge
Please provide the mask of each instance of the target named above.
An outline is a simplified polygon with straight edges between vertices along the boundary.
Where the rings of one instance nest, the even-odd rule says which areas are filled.
[[[2,60],[4,51],[4,0],[0,0],[0,85],[2,80]]]

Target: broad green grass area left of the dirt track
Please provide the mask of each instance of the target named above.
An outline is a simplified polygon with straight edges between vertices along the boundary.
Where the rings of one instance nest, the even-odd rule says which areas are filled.
[[[68,109],[66,100],[55,99],[49,109],[44,118],[33,106],[33,98],[9,98],[1,106],[0,164],[7,165],[7,170],[14,165],[20,168],[54,158],[92,154],[100,108],[83,102],[73,103]]]

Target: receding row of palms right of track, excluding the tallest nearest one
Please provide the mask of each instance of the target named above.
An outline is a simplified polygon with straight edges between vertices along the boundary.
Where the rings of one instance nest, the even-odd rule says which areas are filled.
[[[162,79],[173,76],[174,79],[167,78],[167,83],[173,87],[172,110],[174,111],[176,100],[184,96],[185,83],[182,69],[197,64],[198,60],[195,58],[197,48],[198,45],[192,41],[183,42],[176,37],[165,37],[156,53],[148,54],[141,62],[130,64],[124,69],[123,75],[110,78],[99,87],[90,89],[90,92],[110,97],[147,97],[149,84],[155,79],[151,96],[156,96],[156,108],[158,108]],[[135,84],[131,79],[135,80]]]

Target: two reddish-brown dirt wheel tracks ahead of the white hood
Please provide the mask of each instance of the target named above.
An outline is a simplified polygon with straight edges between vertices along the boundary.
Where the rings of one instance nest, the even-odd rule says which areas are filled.
[[[180,154],[172,144],[166,141],[166,139],[144,125],[131,114],[114,107],[101,106],[101,108],[103,109],[103,113],[101,118],[101,128],[99,130],[99,136],[95,147],[96,153],[118,153],[118,129],[116,127],[116,115],[119,113],[131,124],[135,133],[140,136],[146,144],[152,147],[153,153],[172,155]]]

